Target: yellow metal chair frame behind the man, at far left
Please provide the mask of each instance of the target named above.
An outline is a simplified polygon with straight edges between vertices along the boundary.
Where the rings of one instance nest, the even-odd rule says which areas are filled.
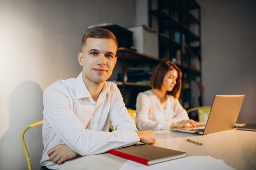
[[[29,126],[27,126],[26,128],[23,129],[21,135],[20,135],[20,141],[21,141],[21,144],[22,144],[22,148],[24,150],[24,153],[25,153],[25,157],[26,157],[26,161],[27,161],[27,168],[29,170],[32,170],[32,167],[31,167],[31,161],[30,161],[30,157],[29,157],[29,152],[27,151],[27,146],[25,144],[25,141],[24,141],[24,135],[25,135],[25,132],[29,129],[29,128],[33,128],[35,126],[38,126],[40,124],[43,124],[43,120],[41,121],[38,121],[34,124],[31,124]]]

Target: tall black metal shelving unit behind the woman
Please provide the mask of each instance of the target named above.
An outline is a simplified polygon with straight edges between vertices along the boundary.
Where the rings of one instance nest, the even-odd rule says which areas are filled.
[[[175,61],[180,51],[180,61],[176,60],[176,64],[185,75],[180,102],[189,109],[191,80],[200,77],[202,81],[200,6],[195,0],[148,0],[148,9],[149,27],[159,33],[159,58]],[[175,33],[180,34],[180,41]],[[191,64],[193,60],[198,61],[196,68]]]

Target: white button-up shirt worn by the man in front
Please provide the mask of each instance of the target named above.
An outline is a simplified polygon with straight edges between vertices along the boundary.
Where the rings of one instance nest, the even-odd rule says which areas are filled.
[[[58,169],[58,164],[49,161],[47,155],[58,144],[67,144],[85,156],[130,146],[140,140],[115,83],[105,82],[95,102],[80,73],[77,78],[58,80],[46,88],[43,104],[44,150],[40,163],[49,169]],[[108,132],[110,120],[113,132]]]

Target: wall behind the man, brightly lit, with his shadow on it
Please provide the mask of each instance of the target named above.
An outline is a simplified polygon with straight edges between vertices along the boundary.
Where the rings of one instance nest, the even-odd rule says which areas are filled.
[[[43,118],[43,91],[76,77],[81,38],[92,24],[134,26],[131,0],[0,0],[0,170],[26,170],[20,134]],[[43,151],[41,126],[25,141],[33,169]]]

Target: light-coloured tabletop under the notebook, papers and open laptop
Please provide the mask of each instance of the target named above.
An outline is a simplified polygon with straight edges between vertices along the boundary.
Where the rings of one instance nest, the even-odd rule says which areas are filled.
[[[226,130],[208,135],[194,135],[170,130],[156,132],[155,146],[186,152],[186,156],[209,155],[223,159],[225,163],[237,170],[256,170],[256,132],[243,130]],[[190,143],[192,139],[203,146]],[[60,170],[118,170],[127,159],[108,153],[90,155],[67,161]]]

